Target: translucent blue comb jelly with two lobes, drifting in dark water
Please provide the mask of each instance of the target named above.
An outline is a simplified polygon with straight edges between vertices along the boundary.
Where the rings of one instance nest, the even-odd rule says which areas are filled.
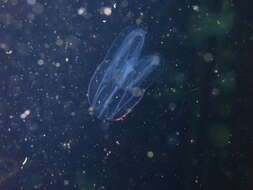
[[[123,119],[142,99],[160,63],[157,54],[141,57],[143,29],[124,34],[114,40],[89,83],[90,111],[102,120]]]

